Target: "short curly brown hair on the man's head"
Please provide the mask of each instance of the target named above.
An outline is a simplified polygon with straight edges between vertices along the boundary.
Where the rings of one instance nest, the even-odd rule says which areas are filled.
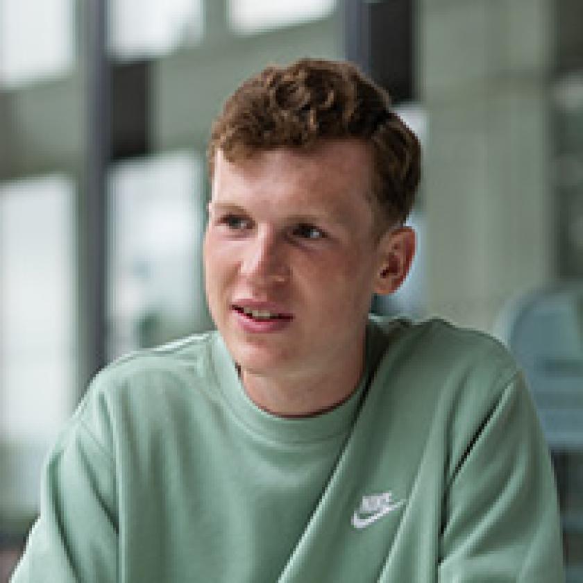
[[[348,62],[305,58],[244,81],[212,125],[209,176],[219,149],[236,162],[279,146],[308,151],[346,138],[371,145],[373,198],[385,221],[404,222],[419,184],[419,140],[391,110],[389,94]]]

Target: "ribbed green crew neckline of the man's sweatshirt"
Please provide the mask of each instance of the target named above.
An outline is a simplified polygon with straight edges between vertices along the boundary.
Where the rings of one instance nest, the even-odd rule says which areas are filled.
[[[223,338],[215,332],[211,344],[212,366],[217,375],[219,389],[228,407],[239,421],[253,432],[281,443],[316,443],[346,433],[353,425],[357,409],[370,377],[370,324],[366,330],[364,371],[357,389],[344,403],[319,415],[286,419],[273,415],[248,397],[235,363]]]

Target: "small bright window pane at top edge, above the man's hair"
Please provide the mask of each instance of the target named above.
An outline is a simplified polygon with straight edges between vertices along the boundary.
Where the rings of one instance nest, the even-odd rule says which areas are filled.
[[[253,34],[330,15],[336,0],[228,0],[228,18],[237,33]]]

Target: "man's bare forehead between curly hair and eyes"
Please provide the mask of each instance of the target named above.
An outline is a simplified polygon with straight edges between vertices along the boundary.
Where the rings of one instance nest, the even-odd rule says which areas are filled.
[[[210,209],[350,226],[355,213],[371,212],[367,151],[360,146],[336,140],[312,151],[276,148],[234,162],[218,151]],[[351,168],[355,160],[361,164]]]

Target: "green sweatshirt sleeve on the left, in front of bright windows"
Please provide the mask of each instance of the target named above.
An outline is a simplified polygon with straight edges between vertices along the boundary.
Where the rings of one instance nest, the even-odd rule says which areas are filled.
[[[47,459],[40,516],[11,583],[117,581],[114,463],[85,412]]]

